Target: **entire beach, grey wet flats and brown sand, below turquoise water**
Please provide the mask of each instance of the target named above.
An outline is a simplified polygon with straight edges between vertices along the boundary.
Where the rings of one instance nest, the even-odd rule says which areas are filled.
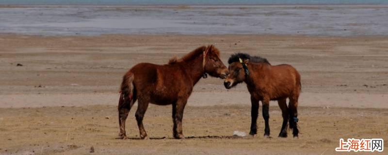
[[[384,139],[387,149],[387,16],[383,4],[0,5],[0,155],[338,155],[341,138]],[[137,104],[129,140],[116,139],[129,68],[209,44],[226,65],[246,52],[299,71],[299,139],[277,138],[275,101],[271,138],[261,106],[258,135],[233,137],[249,133],[250,95],[219,78],[195,85],[185,140],[173,139],[171,106],[156,105],[144,119],[150,140],[139,140]]]

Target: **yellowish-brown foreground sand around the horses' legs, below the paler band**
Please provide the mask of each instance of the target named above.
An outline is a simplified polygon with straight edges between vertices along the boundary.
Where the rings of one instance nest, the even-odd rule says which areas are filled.
[[[277,138],[282,119],[276,107],[270,108],[272,138],[262,137],[261,117],[257,137],[231,137],[235,130],[249,132],[248,111],[247,105],[189,106],[183,133],[194,138],[175,140],[171,107],[151,105],[144,120],[151,140],[138,140],[133,110],[127,120],[130,139],[118,140],[115,106],[0,109],[0,154],[86,155],[93,146],[92,155],[333,155],[340,138],[388,139],[387,109],[308,107],[299,109],[299,139]]]

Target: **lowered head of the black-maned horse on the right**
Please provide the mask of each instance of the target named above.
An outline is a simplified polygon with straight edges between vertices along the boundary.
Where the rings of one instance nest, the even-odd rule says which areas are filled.
[[[226,89],[230,89],[237,84],[243,82],[247,76],[249,76],[249,71],[246,64],[249,62],[249,59],[238,58],[237,62],[230,62],[229,59],[229,75],[224,81],[224,86]]]

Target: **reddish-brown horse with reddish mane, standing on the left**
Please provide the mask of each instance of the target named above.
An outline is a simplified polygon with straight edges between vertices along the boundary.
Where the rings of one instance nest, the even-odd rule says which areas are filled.
[[[181,59],[172,58],[168,64],[139,63],[133,66],[121,83],[118,103],[119,137],[127,139],[125,121],[129,110],[139,100],[135,117],[141,139],[147,139],[143,117],[148,103],[172,104],[173,135],[176,139],[183,139],[183,110],[194,85],[200,78],[206,78],[207,73],[212,77],[226,78],[227,72],[220,60],[219,50],[212,45],[198,47]]]

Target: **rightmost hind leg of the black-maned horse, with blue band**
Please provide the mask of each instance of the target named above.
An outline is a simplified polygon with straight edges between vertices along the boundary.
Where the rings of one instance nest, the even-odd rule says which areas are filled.
[[[294,136],[294,138],[297,138],[299,136],[298,97],[299,96],[290,97],[290,103],[289,103],[290,128],[292,128],[292,135]]]

